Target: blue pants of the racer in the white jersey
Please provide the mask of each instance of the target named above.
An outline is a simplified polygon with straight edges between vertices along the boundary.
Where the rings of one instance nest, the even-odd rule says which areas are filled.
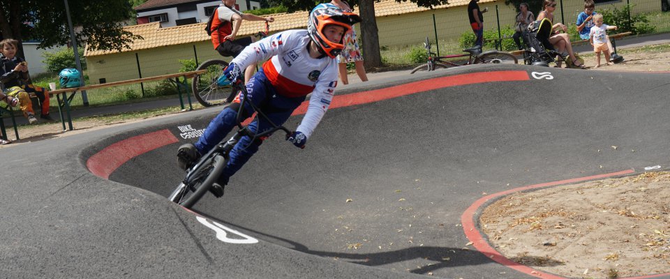
[[[258,73],[253,75],[248,84],[246,84],[246,90],[248,91],[248,100],[245,100],[244,110],[242,112],[243,114],[240,116],[240,121],[248,119],[253,114],[253,108],[248,104],[248,102],[251,102],[257,106],[261,112],[267,115],[270,121],[281,126],[288,120],[293,111],[305,100],[304,96],[288,98],[278,95],[274,86],[272,86],[267,80],[267,77],[265,77],[262,68]],[[242,98],[241,94],[238,97],[239,98],[234,100],[234,103],[225,107],[221,113],[212,119],[209,126],[207,126],[207,129],[204,130],[204,133],[200,136],[200,139],[198,139],[198,142],[195,143],[195,147],[200,154],[205,154],[210,149],[214,148],[214,146],[221,142],[221,140],[230,133],[230,130],[237,125],[235,120],[237,118],[239,99]],[[263,132],[273,127],[267,120],[257,116],[249,124],[248,128],[253,133],[258,133],[258,131]],[[269,135],[267,137],[269,137]],[[244,165],[256,151],[258,151],[258,146],[260,146],[262,141],[267,137],[254,141],[248,136],[241,137],[232,151],[230,151],[228,165],[223,169],[223,174],[221,174],[221,178],[218,182],[222,186],[225,185],[228,182],[228,178],[241,169],[242,165]]]

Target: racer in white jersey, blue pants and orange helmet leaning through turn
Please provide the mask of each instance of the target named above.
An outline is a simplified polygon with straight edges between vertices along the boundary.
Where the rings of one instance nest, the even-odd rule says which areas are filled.
[[[246,47],[236,56],[223,75],[232,82],[239,82],[241,70],[258,61],[267,60],[262,68],[246,84],[248,91],[240,121],[253,114],[252,102],[268,116],[269,121],[281,126],[292,112],[311,93],[307,112],[295,132],[286,138],[295,146],[304,148],[314,129],[328,110],[337,86],[337,62],[335,57],[344,49],[342,39],[351,25],[360,22],[354,13],[346,13],[336,6],[320,5],[310,13],[307,30],[288,30],[276,33]],[[204,130],[204,134],[194,144],[179,147],[177,158],[179,167],[188,169],[201,154],[207,153],[223,140],[237,125],[240,94],[221,111]],[[273,126],[262,117],[256,117],[248,126],[253,133],[260,133]],[[267,137],[252,142],[244,136],[230,151],[228,165],[223,169],[211,192],[217,197],[223,195],[223,186],[228,179],[253,154]]]

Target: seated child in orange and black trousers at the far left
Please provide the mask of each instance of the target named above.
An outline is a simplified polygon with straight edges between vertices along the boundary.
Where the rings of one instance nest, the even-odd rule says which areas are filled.
[[[49,93],[46,89],[31,84],[28,65],[21,57],[16,56],[18,41],[5,39],[0,41],[0,52],[5,56],[0,62],[0,82],[6,88],[20,86],[27,93],[33,93],[40,100],[42,119],[54,120],[49,115]]]

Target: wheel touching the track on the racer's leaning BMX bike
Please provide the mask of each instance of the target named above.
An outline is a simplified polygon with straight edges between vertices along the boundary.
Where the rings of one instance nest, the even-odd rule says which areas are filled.
[[[226,163],[225,158],[220,154],[202,161],[197,169],[191,170],[193,174],[191,180],[179,183],[168,199],[190,209],[209,191],[211,185],[223,172]]]

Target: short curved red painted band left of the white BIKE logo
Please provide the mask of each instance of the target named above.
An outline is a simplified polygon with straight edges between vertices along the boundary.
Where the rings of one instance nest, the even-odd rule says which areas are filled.
[[[114,170],[135,156],[175,142],[179,142],[179,140],[168,129],[129,137],[95,153],[86,161],[86,167],[93,174],[103,179],[109,179]]]

